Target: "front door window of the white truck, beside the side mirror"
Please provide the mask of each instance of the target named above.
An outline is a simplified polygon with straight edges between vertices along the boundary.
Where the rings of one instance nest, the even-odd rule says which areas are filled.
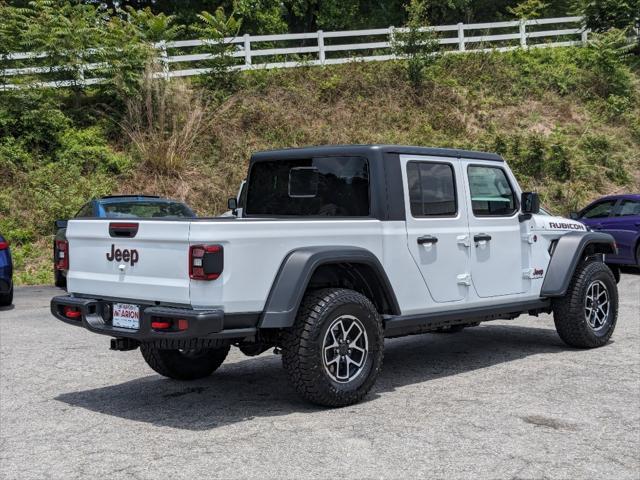
[[[504,170],[499,167],[470,165],[467,174],[475,216],[502,217],[515,213],[516,196]]]

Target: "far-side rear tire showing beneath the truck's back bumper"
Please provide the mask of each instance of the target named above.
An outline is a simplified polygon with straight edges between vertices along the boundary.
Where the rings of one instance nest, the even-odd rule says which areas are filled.
[[[222,365],[229,353],[229,345],[198,350],[168,350],[143,343],[140,352],[147,365],[164,377],[197,380],[208,377]]]

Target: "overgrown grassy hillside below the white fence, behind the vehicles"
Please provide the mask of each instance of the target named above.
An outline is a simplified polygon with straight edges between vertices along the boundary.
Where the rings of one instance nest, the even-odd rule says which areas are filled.
[[[450,55],[419,87],[402,62],[385,62],[251,72],[225,92],[150,86],[116,102],[98,91],[80,102],[5,94],[0,231],[15,245],[17,281],[48,283],[52,222],[89,198],[154,193],[218,214],[252,151],[325,143],[497,151],[524,188],[566,213],[605,193],[640,191],[632,62],[599,45]]]

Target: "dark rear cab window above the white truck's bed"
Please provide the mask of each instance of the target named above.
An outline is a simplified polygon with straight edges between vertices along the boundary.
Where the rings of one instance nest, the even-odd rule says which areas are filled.
[[[366,217],[369,165],[362,157],[256,162],[246,215]]]

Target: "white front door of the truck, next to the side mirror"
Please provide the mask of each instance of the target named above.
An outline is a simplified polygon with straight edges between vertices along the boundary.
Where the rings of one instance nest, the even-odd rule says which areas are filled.
[[[464,161],[471,277],[479,297],[525,291],[519,191],[503,163]]]

